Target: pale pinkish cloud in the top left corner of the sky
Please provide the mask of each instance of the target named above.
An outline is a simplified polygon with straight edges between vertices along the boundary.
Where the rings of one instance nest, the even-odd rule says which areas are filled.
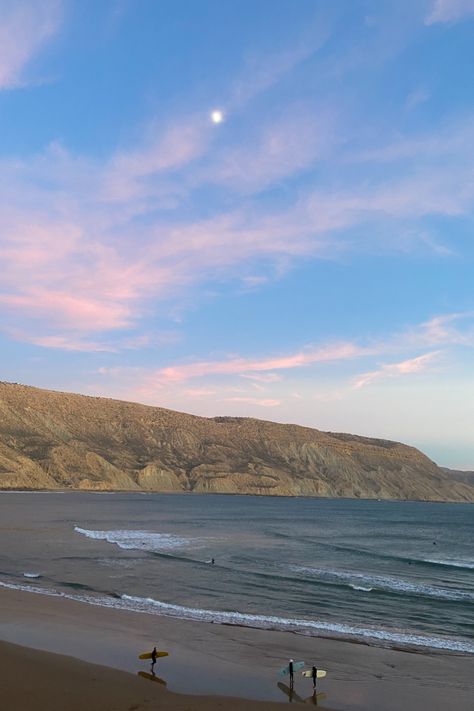
[[[2,0],[0,4],[0,89],[24,86],[24,70],[58,31],[60,0]]]

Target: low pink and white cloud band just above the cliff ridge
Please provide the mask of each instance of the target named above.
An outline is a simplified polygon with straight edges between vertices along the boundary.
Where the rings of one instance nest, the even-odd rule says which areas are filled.
[[[474,347],[473,321],[474,313],[471,312],[443,314],[366,343],[321,343],[278,356],[262,355],[254,359],[233,356],[165,368],[101,368],[100,374],[105,377],[97,385],[97,391],[179,410],[188,410],[189,403],[199,401],[196,414],[210,416],[215,414],[219,402],[261,406],[263,401],[282,404],[291,398],[296,406],[302,393],[305,401],[331,404],[350,399],[357,390],[378,381],[437,368],[441,359],[445,367],[449,366],[454,349]],[[414,352],[426,348],[431,350],[413,356]],[[401,359],[401,356],[405,357]],[[374,367],[375,359],[380,358],[390,360]],[[367,371],[348,376],[348,373],[357,372],[355,369],[360,360],[369,363]],[[324,376],[321,375],[323,364],[332,366],[329,377],[327,370]],[[340,368],[342,364],[344,367]],[[285,378],[276,370],[284,370]],[[307,372],[303,373],[303,370]],[[250,387],[242,386],[242,379],[248,381]],[[305,389],[301,390],[301,387]]]

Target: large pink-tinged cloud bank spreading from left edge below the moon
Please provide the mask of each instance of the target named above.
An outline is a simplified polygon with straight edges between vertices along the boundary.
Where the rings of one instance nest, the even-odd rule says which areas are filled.
[[[237,92],[241,107],[312,51],[296,52],[282,60],[280,73]],[[170,302],[196,303],[206,282],[262,285],[303,258],[380,250],[381,228],[398,240],[394,228],[401,222],[407,229],[408,221],[463,216],[472,208],[467,120],[428,139],[392,141],[358,155],[340,141],[344,131],[335,129],[333,113],[308,103],[261,123],[248,145],[229,135],[222,148],[207,113],[194,111],[169,125],[149,121],[135,144],[103,161],[58,143],[28,159],[0,161],[3,323],[20,321],[21,331],[45,347],[83,349],[89,338],[91,347],[140,344],[146,317],[169,315]],[[336,170],[341,177],[321,187],[325,170],[334,175],[334,166],[351,161],[399,165],[394,173],[377,166],[364,180]],[[315,165],[323,180],[304,187],[288,180]],[[260,195],[281,182],[283,198]],[[364,236],[351,242],[350,231],[360,226]],[[440,256],[452,252],[426,231],[413,232]],[[400,247],[393,239],[383,248]],[[120,346],[113,332],[123,330],[130,333]],[[239,373],[247,372],[245,363],[236,366]]]

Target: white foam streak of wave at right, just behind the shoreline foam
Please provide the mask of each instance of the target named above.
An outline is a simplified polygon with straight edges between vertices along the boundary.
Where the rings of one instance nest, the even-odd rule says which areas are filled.
[[[309,568],[304,566],[291,566],[292,570],[306,573],[327,580],[328,582],[344,582],[354,588],[363,586],[362,589],[381,590],[386,592],[407,593],[411,595],[426,595],[439,600],[474,601],[474,593],[450,588],[439,588],[423,583],[413,583],[400,578],[384,575],[371,575],[368,573],[354,573],[347,570],[329,570],[325,568]],[[357,589],[357,588],[355,588]],[[360,587],[358,589],[361,589]]]

